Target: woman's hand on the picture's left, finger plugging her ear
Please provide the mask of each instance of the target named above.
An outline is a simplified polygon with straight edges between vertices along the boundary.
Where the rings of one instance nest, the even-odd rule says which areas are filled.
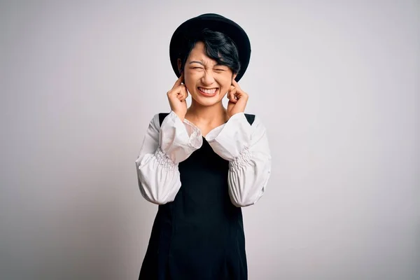
[[[188,97],[188,91],[186,85],[183,85],[183,72],[178,80],[176,80],[172,90],[167,92],[169,105],[171,106],[171,110],[176,113],[176,115],[181,119],[184,120],[187,113],[187,102],[186,98]]]

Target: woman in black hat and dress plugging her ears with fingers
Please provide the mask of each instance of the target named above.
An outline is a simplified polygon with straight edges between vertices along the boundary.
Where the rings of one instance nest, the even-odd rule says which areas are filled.
[[[271,169],[265,127],[244,113],[237,83],[248,36],[205,14],[176,29],[169,48],[179,77],[171,112],[151,120],[136,160],[141,195],[159,204],[139,279],[247,279],[241,207],[260,199]]]

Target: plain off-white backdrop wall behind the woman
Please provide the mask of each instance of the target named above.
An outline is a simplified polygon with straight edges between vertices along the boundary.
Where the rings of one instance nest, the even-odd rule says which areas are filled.
[[[419,1],[1,1],[0,278],[137,279],[157,207],[134,160],[202,13],[251,38],[239,83],[272,177],[249,279],[420,279]]]

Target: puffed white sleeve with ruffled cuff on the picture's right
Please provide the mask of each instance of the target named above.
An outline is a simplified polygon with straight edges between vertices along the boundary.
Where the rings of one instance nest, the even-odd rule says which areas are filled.
[[[271,174],[271,153],[265,126],[255,116],[250,125],[244,113],[236,113],[228,123],[206,136],[211,148],[229,161],[229,194],[233,204],[255,204],[265,192]]]

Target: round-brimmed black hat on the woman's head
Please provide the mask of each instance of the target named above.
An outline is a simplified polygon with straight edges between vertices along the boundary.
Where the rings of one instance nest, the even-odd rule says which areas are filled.
[[[251,57],[251,43],[249,42],[248,35],[246,35],[244,29],[242,29],[236,22],[229,20],[216,13],[206,13],[199,15],[196,18],[191,18],[186,22],[183,22],[174,32],[169,43],[169,57],[171,59],[172,69],[174,69],[176,76],[181,76],[178,70],[178,59],[186,48],[188,39],[191,34],[196,31],[201,31],[204,28],[208,28],[211,31],[219,31],[229,36],[232,41],[237,45],[239,52],[239,62],[241,63],[241,69],[237,73],[236,81],[239,81],[246,71]]]

